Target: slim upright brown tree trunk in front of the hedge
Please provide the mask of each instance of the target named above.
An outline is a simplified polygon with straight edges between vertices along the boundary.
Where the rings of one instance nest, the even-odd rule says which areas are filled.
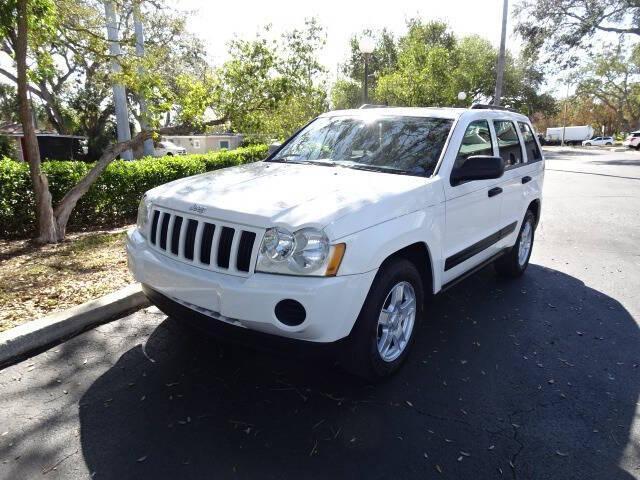
[[[53,217],[51,193],[47,176],[40,168],[40,148],[38,137],[33,125],[31,104],[27,98],[27,0],[18,0],[18,35],[16,42],[16,65],[18,71],[18,102],[20,105],[20,121],[24,135],[26,151],[23,152],[29,162],[29,173],[33,184],[36,200],[36,221],[38,224],[38,238],[42,243],[55,243],[58,241],[57,228]]]

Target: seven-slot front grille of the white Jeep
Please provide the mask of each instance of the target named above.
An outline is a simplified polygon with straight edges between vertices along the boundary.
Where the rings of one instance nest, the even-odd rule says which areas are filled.
[[[247,275],[257,256],[259,229],[191,217],[162,208],[151,216],[149,243],[176,260],[208,270]]]

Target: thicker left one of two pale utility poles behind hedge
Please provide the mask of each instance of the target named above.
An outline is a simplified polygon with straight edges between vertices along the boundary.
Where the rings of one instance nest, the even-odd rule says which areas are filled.
[[[122,67],[118,58],[120,57],[120,35],[118,33],[118,20],[116,10],[111,0],[104,2],[104,14],[107,21],[107,40],[109,40],[109,53],[111,55],[111,73],[120,73]],[[127,111],[127,94],[124,85],[113,84],[113,104],[116,110],[116,126],[118,131],[118,142],[131,140],[131,130],[129,129],[129,113]],[[123,160],[133,160],[131,150],[126,150],[120,154]]]

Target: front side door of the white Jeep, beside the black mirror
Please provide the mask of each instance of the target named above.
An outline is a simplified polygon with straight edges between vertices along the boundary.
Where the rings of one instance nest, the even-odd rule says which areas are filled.
[[[451,145],[460,145],[448,178],[443,178],[446,225],[442,247],[442,283],[446,284],[497,252],[500,240],[502,179],[452,184],[450,173],[471,155],[497,153],[492,124],[486,119],[459,121]]]

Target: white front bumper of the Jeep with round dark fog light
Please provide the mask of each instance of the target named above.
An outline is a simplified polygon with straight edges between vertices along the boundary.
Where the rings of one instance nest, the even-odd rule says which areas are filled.
[[[211,322],[323,343],[349,335],[376,274],[376,270],[337,277],[222,274],[148,248],[135,229],[128,234],[127,259],[134,278],[146,289],[208,316]],[[275,306],[284,299],[304,306],[306,318],[300,325],[288,326],[276,318]]]

